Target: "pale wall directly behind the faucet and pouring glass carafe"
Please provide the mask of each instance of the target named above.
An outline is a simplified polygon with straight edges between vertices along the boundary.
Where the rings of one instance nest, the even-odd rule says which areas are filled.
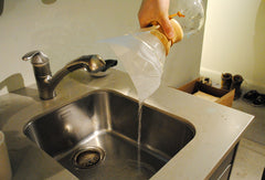
[[[98,40],[139,28],[141,0],[6,0],[0,15],[0,95],[35,83],[30,62],[21,56],[42,50],[53,74],[84,54],[116,57]],[[199,75],[202,34],[174,45],[167,59],[163,82],[178,86]],[[123,70],[123,66],[118,66]]]

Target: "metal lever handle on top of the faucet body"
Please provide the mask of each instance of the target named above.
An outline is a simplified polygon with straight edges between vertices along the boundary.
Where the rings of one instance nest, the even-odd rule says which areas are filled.
[[[22,56],[23,61],[31,60],[32,64],[44,64],[49,63],[47,56],[41,51],[31,51]]]

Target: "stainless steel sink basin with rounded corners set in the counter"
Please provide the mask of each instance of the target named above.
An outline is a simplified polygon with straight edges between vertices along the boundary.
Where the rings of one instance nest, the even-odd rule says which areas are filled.
[[[194,128],[116,92],[96,91],[30,120],[24,134],[80,179],[149,179],[195,135]]]

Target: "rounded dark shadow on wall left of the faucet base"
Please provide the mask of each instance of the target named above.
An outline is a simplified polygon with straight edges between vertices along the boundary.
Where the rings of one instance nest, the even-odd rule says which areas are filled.
[[[13,92],[24,87],[24,80],[20,73],[13,74],[0,82],[0,91],[7,87],[8,92]]]

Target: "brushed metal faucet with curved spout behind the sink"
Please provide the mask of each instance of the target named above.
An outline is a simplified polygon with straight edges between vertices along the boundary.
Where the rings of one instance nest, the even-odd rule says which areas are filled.
[[[52,76],[50,70],[47,56],[41,51],[29,52],[22,57],[22,60],[31,60],[39,95],[42,99],[51,99],[55,97],[54,89],[56,85],[61,82],[61,80],[63,80],[64,76],[75,70],[86,68],[86,71],[91,73],[106,71],[106,62],[99,55],[83,55],[66,64],[62,70],[55,73],[54,76]]]

